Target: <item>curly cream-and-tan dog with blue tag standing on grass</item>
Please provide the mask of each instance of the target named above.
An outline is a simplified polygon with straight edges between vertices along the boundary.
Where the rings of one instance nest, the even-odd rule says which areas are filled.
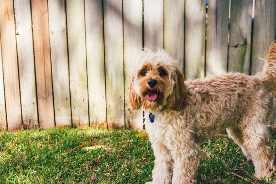
[[[200,145],[227,130],[255,166],[257,178],[275,170],[269,127],[276,95],[276,43],[262,73],[184,80],[164,50],[148,49],[133,63],[129,100],[145,111],[145,128],[155,155],[152,181],[196,183]]]

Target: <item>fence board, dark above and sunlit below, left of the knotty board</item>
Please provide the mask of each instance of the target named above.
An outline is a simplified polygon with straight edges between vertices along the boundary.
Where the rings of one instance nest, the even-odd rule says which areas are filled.
[[[206,30],[206,75],[227,71],[229,0],[209,1]]]

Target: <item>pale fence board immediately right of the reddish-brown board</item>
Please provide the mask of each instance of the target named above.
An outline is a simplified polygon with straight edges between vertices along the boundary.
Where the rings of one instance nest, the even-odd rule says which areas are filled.
[[[65,1],[48,0],[56,126],[71,126]]]

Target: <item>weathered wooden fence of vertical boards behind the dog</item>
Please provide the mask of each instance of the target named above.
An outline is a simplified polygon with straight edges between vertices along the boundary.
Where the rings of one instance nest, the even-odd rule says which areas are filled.
[[[275,0],[0,0],[0,128],[142,129],[128,76],[143,47],[186,78],[254,75],[275,34]]]

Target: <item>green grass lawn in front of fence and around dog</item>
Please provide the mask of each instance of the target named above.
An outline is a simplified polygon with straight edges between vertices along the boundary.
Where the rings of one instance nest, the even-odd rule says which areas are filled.
[[[151,180],[154,155],[148,138],[137,133],[90,128],[0,131],[0,183],[145,183]],[[271,141],[275,150],[275,133]],[[91,146],[99,147],[83,149]],[[250,183],[228,174],[250,180],[245,172],[231,169],[252,174],[254,166],[226,134],[201,148],[198,183]]]

